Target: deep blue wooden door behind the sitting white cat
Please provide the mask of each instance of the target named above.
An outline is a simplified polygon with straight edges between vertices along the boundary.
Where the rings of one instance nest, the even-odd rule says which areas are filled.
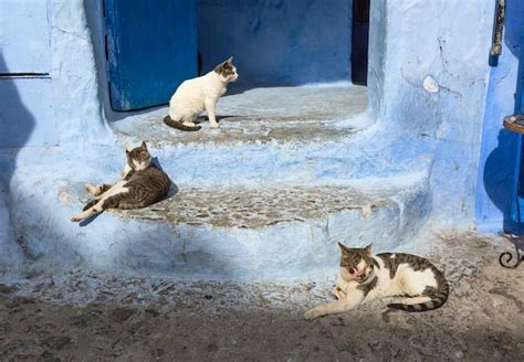
[[[197,75],[196,0],[105,0],[114,110],[169,102]]]

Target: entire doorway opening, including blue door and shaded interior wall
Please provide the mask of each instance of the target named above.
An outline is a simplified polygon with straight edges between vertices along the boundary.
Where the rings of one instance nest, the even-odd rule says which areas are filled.
[[[111,108],[165,105],[229,56],[256,87],[366,85],[369,0],[103,0]]]

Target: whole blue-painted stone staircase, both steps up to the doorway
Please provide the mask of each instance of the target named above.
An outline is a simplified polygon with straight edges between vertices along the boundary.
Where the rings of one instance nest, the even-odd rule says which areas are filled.
[[[373,155],[359,124],[364,88],[290,89],[226,97],[219,110],[237,120],[223,118],[219,130],[167,129],[158,109],[116,121],[119,145],[82,162],[64,149],[22,152],[11,182],[18,243],[57,266],[234,280],[331,275],[339,241],[377,252],[404,245],[430,210],[429,162]],[[274,108],[271,98],[281,99]],[[116,178],[123,146],[142,139],[176,183],[171,196],[71,223],[88,199],[83,183]]]

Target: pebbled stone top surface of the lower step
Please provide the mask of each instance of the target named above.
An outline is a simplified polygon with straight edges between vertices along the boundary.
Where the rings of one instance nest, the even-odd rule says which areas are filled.
[[[113,211],[128,217],[168,220],[174,224],[258,228],[289,221],[326,217],[329,213],[394,204],[391,191],[365,194],[348,187],[254,189],[182,188],[145,210]]]

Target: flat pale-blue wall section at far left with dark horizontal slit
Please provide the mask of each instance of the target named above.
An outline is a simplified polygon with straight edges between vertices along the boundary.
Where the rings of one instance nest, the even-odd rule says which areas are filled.
[[[59,142],[49,8],[49,1],[0,1],[0,148]]]

